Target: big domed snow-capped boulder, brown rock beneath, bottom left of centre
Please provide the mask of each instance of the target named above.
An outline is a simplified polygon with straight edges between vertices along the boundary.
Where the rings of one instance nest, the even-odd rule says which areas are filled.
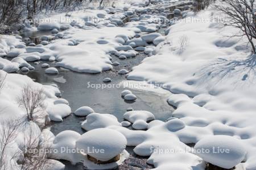
[[[126,145],[127,141],[123,134],[107,128],[88,131],[76,141],[79,150],[101,161],[108,161],[121,154]]]

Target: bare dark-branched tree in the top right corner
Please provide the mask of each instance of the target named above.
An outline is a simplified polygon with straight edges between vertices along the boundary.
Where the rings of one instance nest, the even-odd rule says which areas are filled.
[[[255,0],[226,0],[221,5],[216,5],[217,10],[225,14],[225,25],[241,30],[241,35],[246,36],[251,49],[255,54],[254,39],[256,39]],[[233,37],[234,37],[233,36]]]

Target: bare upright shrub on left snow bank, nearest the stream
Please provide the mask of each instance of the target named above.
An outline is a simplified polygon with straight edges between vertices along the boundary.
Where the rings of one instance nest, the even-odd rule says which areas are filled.
[[[26,109],[27,119],[36,121],[44,117],[46,106],[44,100],[46,96],[43,94],[43,88],[33,88],[30,85],[23,87],[22,94],[17,97],[20,107]]]

